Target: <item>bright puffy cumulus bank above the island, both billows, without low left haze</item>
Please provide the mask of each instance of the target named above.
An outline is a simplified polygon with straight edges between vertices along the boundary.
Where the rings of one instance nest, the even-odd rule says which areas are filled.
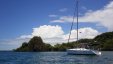
[[[90,27],[80,28],[79,30],[79,39],[81,38],[94,38],[99,32]],[[70,41],[76,41],[77,30],[71,31]],[[49,44],[63,43],[67,42],[69,38],[69,33],[65,34],[61,26],[51,26],[43,25],[37,28],[33,28],[31,35],[22,35],[20,39],[32,38],[33,36],[41,36],[44,42]]]

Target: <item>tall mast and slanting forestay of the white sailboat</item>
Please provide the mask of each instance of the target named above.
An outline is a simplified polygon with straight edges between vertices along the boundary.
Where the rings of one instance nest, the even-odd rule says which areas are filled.
[[[76,10],[77,10],[77,12],[76,12]],[[73,29],[73,24],[74,24],[74,21],[75,21],[75,15],[76,15],[76,14],[77,14],[77,41],[78,41],[78,0],[76,0],[76,7],[75,7],[75,10],[74,10],[73,21],[72,21],[71,28],[70,28],[68,43],[69,43],[69,41],[70,41],[71,31],[72,31],[72,29]]]

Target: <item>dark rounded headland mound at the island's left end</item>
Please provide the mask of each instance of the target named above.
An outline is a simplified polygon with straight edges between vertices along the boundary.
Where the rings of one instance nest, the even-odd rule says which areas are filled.
[[[17,48],[15,51],[45,51],[45,43],[41,37],[33,37],[28,43],[24,42],[21,47]]]

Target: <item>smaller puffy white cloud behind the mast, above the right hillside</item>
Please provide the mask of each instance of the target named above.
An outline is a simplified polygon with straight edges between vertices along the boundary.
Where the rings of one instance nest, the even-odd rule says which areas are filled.
[[[100,34],[97,30],[92,29],[90,27],[85,27],[85,28],[80,28],[78,29],[78,38],[83,39],[83,38],[89,38],[92,39],[95,36]],[[68,39],[69,34],[64,35],[64,39]],[[77,38],[77,30],[72,30],[71,31],[71,38],[70,39],[76,39]]]

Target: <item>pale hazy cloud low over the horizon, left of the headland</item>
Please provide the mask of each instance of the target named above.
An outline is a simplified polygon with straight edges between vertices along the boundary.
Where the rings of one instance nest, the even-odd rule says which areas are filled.
[[[29,38],[0,40],[0,50],[16,49],[21,46],[23,42],[28,42],[29,40]]]

